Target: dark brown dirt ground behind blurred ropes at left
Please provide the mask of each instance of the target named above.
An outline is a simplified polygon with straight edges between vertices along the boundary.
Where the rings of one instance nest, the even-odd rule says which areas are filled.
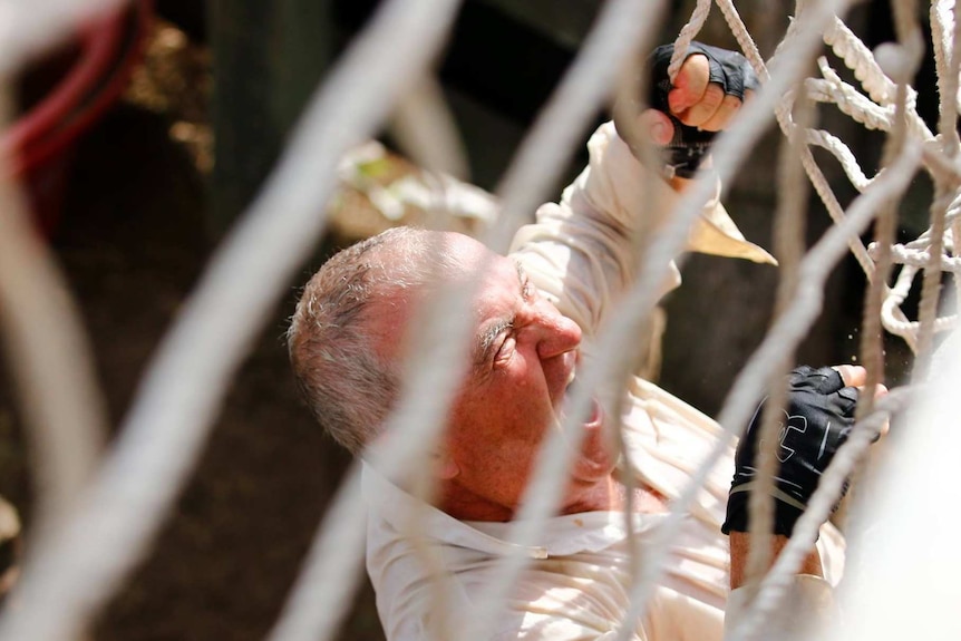
[[[191,128],[202,114],[137,103],[113,109],[77,147],[51,240],[114,426],[213,247],[203,130]],[[156,548],[94,639],[254,640],[276,620],[348,463],[295,396],[282,340],[295,284],[234,380]],[[0,493],[29,530],[30,476],[9,372],[0,372]],[[369,586],[341,638],[382,639]]]

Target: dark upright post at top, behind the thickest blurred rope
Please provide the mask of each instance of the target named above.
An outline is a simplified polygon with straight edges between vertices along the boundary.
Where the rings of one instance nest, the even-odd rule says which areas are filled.
[[[270,173],[332,57],[331,0],[210,0],[215,164],[210,222],[223,233]]]

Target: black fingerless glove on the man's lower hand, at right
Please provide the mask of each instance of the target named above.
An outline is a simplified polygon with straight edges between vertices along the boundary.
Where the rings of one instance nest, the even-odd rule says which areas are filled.
[[[776,450],[780,468],[775,473],[771,494],[775,505],[775,534],[790,536],[807,507],[837,448],[847,440],[854,426],[857,389],[844,387],[841,373],[824,367],[800,367],[789,377],[788,402]],[[761,402],[735,456],[735,475],[728,496],[727,519],[721,532],[748,531],[748,501],[756,485],[757,439]]]

